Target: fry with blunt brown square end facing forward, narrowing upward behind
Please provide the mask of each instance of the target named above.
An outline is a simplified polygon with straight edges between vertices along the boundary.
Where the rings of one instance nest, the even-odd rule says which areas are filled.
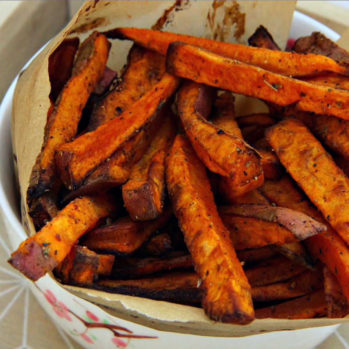
[[[146,154],[134,164],[122,186],[124,205],[134,221],[155,219],[166,196],[165,157],[175,136],[173,113],[166,116]]]

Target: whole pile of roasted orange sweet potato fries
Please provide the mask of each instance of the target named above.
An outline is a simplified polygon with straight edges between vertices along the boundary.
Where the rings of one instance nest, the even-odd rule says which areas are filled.
[[[119,78],[108,39],[134,41]],[[249,44],[65,39],[27,192],[38,232],[9,262],[232,324],[346,316],[349,54],[319,33],[282,52],[263,27]],[[270,113],[236,117],[231,92]]]

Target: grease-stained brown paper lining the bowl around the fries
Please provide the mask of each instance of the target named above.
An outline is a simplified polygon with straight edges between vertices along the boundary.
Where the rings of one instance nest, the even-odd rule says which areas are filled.
[[[87,1],[67,27],[38,54],[19,76],[13,99],[13,148],[18,163],[23,225],[35,233],[25,205],[32,167],[39,154],[49,109],[48,57],[66,36],[81,41],[92,30],[115,27],[155,28],[247,44],[262,24],[280,47],[285,47],[296,1]],[[132,43],[113,40],[107,65],[115,70],[126,62]],[[239,101],[245,108],[247,99]],[[253,102],[254,103],[254,102]],[[251,104],[248,99],[248,104]],[[257,106],[258,108],[258,106]],[[52,276],[53,277],[53,276]],[[202,309],[145,298],[63,286],[100,305],[112,315],[163,331],[207,336],[247,336],[269,331],[339,324],[348,319],[255,320],[247,326],[221,324]]]

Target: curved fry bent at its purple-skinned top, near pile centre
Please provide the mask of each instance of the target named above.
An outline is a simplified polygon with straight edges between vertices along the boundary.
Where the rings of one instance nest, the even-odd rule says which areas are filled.
[[[205,120],[210,96],[205,85],[186,81],[178,93],[178,113],[196,154],[211,171],[227,177],[226,185],[240,196],[263,183],[260,157],[243,140]]]

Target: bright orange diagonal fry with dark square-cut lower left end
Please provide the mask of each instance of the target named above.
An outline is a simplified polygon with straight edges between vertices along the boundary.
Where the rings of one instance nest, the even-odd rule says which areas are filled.
[[[164,103],[176,91],[179,81],[177,77],[165,74],[160,82],[119,118],[59,147],[55,157],[57,172],[65,186],[79,186],[122,143],[139,132],[147,122],[152,122]]]

